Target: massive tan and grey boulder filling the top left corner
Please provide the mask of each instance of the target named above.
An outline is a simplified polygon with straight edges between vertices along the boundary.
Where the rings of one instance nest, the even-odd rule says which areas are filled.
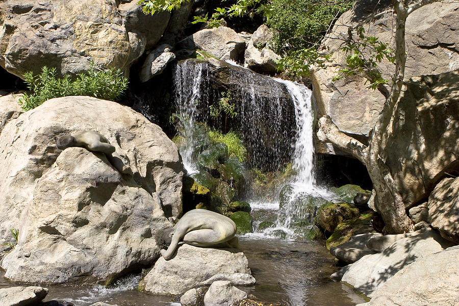
[[[0,2],[0,66],[22,78],[55,66],[58,73],[131,64],[154,46],[170,13],[145,15],[136,0]]]

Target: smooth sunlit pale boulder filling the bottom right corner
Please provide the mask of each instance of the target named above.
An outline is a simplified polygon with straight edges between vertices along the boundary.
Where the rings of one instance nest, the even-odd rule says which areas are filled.
[[[407,265],[358,306],[450,306],[459,301],[459,246]]]

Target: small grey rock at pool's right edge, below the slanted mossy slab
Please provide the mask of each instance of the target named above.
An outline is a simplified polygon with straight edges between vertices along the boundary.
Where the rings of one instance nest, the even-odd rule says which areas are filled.
[[[369,233],[352,236],[347,242],[339,246],[330,247],[330,253],[346,264],[352,264],[365,255],[374,254],[376,251],[366,246],[368,240],[379,237],[381,234]]]

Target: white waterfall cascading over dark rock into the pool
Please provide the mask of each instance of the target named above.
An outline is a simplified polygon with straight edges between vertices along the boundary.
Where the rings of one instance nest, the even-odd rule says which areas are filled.
[[[274,227],[271,224],[262,235],[272,236],[281,230],[283,235],[298,236],[292,226],[304,229],[312,224],[319,204],[314,197],[328,197],[324,189],[316,186],[314,177],[311,91],[304,85],[262,77],[241,67],[215,68],[191,60],[176,65],[174,99],[180,117],[179,130],[185,139],[180,152],[185,168],[193,177],[199,172],[197,148],[203,141],[202,125],[197,122],[208,122],[209,106],[218,101],[216,92],[222,91],[213,84],[216,75],[225,80],[226,88],[231,88],[237,104],[238,115],[231,126],[240,132],[247,145],[250,166],[261,165],[275,171],[284,169],[291,161],[295,173],[280,196],[277,196],[279,190],[271,195],[266,190],[265,196],[258,195],[250,201],[252,211],[263,215],[259,219],[252,213],[255,224],[271,215],[270,220],[276,220]]]

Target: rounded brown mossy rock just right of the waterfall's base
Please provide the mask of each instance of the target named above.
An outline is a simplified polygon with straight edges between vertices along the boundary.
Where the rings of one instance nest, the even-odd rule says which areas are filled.
[[[360,212],[350,203],[327,202],[319,208],[314,224],[317,225],[326,235],[330,235],[335,228],[343,221],[359,216]]]

